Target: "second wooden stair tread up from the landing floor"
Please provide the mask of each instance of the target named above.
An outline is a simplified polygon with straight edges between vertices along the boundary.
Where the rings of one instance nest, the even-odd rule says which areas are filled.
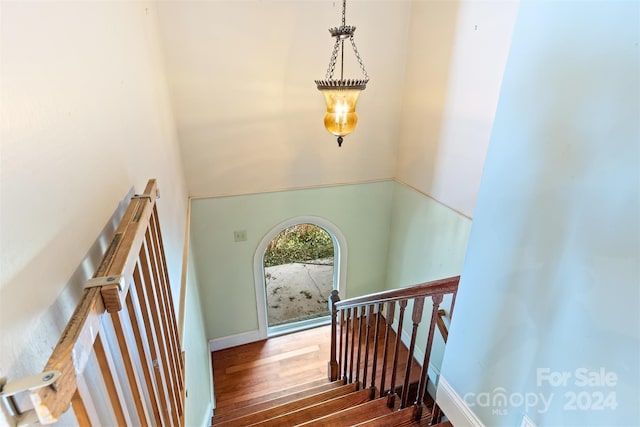
[[[340,385],[330,388],[329,390],[323,390],[319,393],[311,394],[308,396],[300,397],[295,400],[281,403],[277,406],[268,407],[255,412],[244,413],[239,417],[229,418],[225,417],[224,420],[215,422],[216,427],[229,427],[229,426],[248,426],[255,423],[262,423],[265,420],[269,420],[274,417],[288,414],[298,411],[313,405],[317,405],[321,402],[331,401],[336,398],[349,396],[357,389],[357,384]],[[214,417],[215,420],[215,417]]]

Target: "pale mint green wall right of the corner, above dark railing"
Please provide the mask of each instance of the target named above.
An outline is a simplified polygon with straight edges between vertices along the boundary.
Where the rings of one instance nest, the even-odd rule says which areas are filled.
[[[389,233],[387,289],[459,275],[470,229],[469,218],[406,185],[395,183]],[[448,310],[450,305],[451,299],[446,298],[441,308]],[[416,346],[420,362],[424,355],[432,307],[430,301],[425,303],[423,321],[418,329]],[[407,310],[412,310],[412,306],[409,305]],[[411,333],[410,321],[405,320],[403,330],[405,334]],[[434,381],[433,376],[440,372],[443,354],[444,341],[436,330],[429,361]]]

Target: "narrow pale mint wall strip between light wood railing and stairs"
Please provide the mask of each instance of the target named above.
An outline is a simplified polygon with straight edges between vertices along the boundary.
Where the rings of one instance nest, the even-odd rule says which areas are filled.
[[[185,383],[187,400],[185,410],[186,426],[208,425],[213,409],[213,389],[211,388],[211,353],[207,345],[200,292],[193,257],[187,266],[185,294],[185,316],[182,328],[182,345],[185,351]]]

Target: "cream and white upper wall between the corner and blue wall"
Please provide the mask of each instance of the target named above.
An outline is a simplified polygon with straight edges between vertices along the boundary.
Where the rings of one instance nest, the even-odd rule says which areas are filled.
[[[473,216],[517,1],[413,1],[396,178]]]

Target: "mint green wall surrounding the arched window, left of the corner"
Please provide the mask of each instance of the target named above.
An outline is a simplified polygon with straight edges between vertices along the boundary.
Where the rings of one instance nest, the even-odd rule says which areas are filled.
[[[258,329],[255,250],[274,226],[296,216],[325,218],[346,237],[347,297],[384,289],[393,186],[384,181],[193,200],[191,242],[207,338]],[[234,230],[246,230],[247,241],[234,242]]]

